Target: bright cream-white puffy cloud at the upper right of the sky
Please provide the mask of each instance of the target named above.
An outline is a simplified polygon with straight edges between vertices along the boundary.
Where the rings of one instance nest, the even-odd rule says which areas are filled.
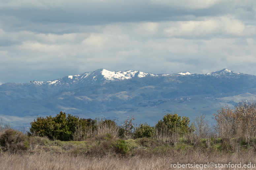
[[[219,16],[202,21],[172,21],[164,33],[167,36],[182,37],[254,36],[256,30],[255,26],[245,26],[240,20]]]

